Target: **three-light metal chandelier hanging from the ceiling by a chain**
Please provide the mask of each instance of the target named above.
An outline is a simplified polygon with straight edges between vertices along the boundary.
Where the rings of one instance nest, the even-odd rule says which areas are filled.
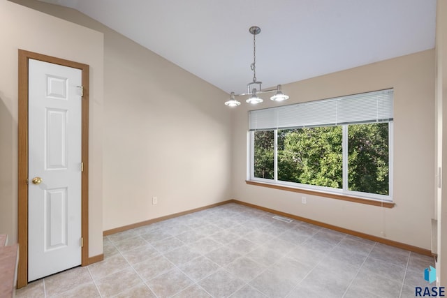
[[[281,85],[277,85],[276,89],[263,90],[261,87],[263,82],[258,82],[258,79],[256,79],[256,35],[261,33],[261,28],[253,26],[250,27],[249,32],[253,34],[253,63],[250,66],[251,70],[253,70],[253,82],[247,84],[247,93],[235,94],[234,92],[231,92],[230,100],[225,103],[228,107],[237,107],[237,105],[240,105],[240,102],[235,99],[235,96],[249,95],[249,98],[245,101],[253,105],[263,102],[263,99],[258,97],[258,94],[262,93],[274,92],[274,96],[270,97],[270,99],[275,101],[288,99],[288,96],[282,93]]]

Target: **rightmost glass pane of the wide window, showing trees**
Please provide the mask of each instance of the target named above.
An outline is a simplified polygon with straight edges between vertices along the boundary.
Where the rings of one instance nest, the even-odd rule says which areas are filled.
[[[348,126],[350,191],[389,194],[388,123]]]

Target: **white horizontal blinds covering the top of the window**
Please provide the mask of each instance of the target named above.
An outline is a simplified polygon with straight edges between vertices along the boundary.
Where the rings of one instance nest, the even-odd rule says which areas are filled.
[[[303,128],[393,120],[393,89],[249,112],[249,130]]]

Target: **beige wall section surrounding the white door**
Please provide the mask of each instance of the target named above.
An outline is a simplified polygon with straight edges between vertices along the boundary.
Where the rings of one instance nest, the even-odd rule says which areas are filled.
[[[103,34],[0,0],[0,234],[17,241],[17,50],[90,66],[89,255],[102,253]]]

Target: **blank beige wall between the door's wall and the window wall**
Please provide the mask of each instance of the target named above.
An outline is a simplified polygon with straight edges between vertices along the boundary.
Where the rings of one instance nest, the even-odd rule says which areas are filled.
[[[103,230],[230,198],[228,94],[76,10],[14,2],[104,34]]]

